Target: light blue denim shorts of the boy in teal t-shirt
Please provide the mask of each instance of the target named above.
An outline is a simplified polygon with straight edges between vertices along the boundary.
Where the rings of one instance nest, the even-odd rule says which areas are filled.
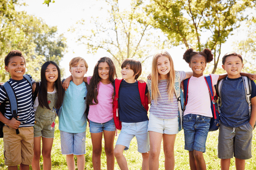
[[[68,133],[60,131],[61,154],[84,155],[86,131],[82,133]]]

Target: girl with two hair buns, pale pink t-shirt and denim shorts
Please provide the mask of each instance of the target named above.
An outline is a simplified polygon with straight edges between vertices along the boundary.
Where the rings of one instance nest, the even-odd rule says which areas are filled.
[[[206,63],[211,62],[213,55],[211,50],[202,52],[188,49],[183,59],[189,64],[193,76],[188,84],[188,104],[184,111],[183,128],[185,136],[185,150],[189,151],[189,164],[191,170],[206,170],[203,152],[212,117],[210,94],[203,72]],[[226,76],[211,74],[212,84],[216,85],[218,79]]]

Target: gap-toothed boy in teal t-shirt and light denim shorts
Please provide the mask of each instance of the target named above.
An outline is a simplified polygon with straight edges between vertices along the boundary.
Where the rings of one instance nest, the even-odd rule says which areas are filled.
[[[83,58],[76,57],[69,62],[69,68],[72,81],[65,91],[59,112],[61,153],[66,155],[69,170],[75,169],[74,155],[78,170],[84,170],[87,89],[83,79],[88,64]]]

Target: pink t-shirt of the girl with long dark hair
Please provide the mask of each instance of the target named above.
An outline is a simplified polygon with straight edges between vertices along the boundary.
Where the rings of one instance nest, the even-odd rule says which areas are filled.
[[[92,77],[87,77],[88,84]],[[113,118],[113,97],[114,87],[110,83],[104,85],[99,82],[98,104],[90,105],[88,119],[96,123],[105,123]]]

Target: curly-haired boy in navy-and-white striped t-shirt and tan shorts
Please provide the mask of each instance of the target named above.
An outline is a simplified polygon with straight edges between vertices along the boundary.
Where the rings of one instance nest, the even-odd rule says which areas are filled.
[[[5,125],[4,132],[4,164],[8,170],[29,170],[33,158],[34,123],[35,113],[33,110],[32,88],[23,75],[26,70],[26,60],[19,50],[12,50],[4,58],[5,70],[10,73],[11,78],[7,81],[17,99],[17,120],[13,118],[10,104],[3,86],[0,86],[0,104],[6,100],[4,115],[0,113],[0,121]],[[35,84],[30,75],[33,89]],[[19,130],[19,134],[16,133]]]

